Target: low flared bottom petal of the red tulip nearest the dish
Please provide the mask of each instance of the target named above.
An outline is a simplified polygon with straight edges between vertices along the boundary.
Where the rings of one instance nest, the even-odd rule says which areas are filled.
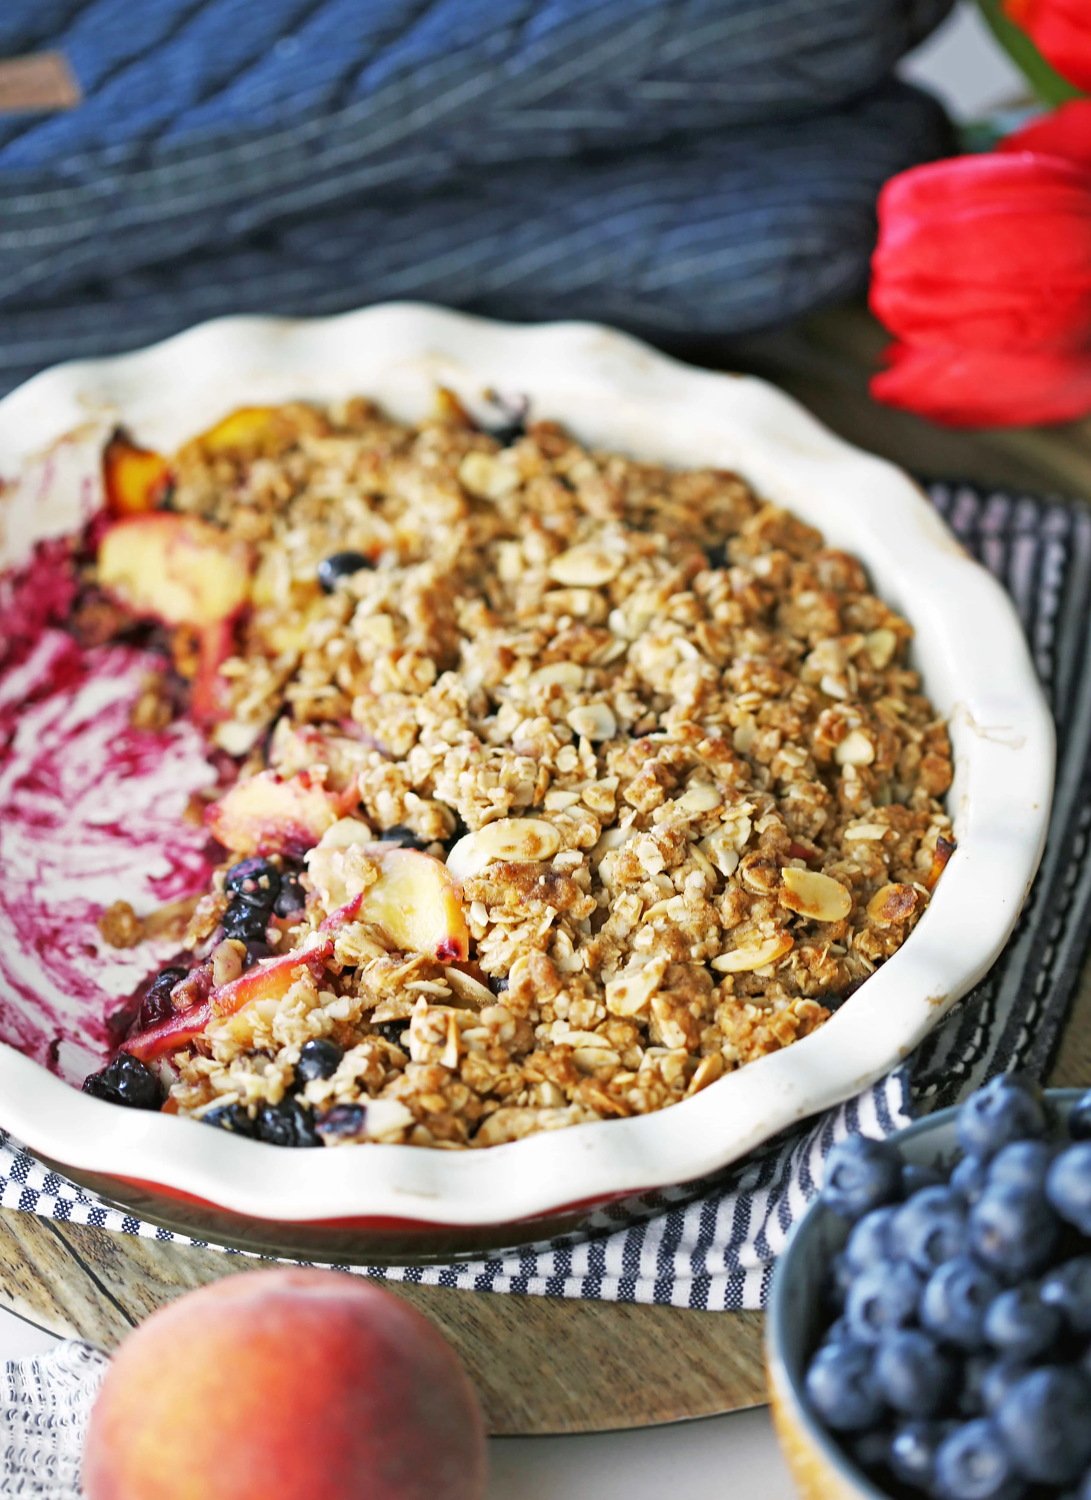
[[[1022,428],[1091,412],[1091,351],[1011,354],[894,344],[870,392],[948,428]]]

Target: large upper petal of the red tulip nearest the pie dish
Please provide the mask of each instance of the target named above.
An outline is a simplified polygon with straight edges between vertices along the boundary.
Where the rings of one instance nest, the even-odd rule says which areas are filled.
[[[1091,176],[1029,152],[956,156],[879,195],[870,306],[909,344],[1091,342]]]

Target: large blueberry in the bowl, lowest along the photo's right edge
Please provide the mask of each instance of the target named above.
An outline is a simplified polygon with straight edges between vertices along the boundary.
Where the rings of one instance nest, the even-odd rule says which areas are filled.
[[[996,1407],[1004,1446],[1025,1479],[1070,1485],[1091,1460],[1091,1384],[1077,1370],[1046,1365],[1023,1376]]]

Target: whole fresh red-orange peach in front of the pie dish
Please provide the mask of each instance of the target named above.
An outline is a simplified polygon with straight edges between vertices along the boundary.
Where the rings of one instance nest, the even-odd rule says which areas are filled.
[[[107,1371],[87,1500],[480,1500],[485,1428],[458,1356],[338,1270],[227,1276],[161,1308]]]

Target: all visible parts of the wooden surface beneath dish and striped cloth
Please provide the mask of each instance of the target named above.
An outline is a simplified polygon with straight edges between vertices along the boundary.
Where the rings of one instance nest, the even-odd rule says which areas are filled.
[[[1091,422],[956,434],[881,408],[867,375],[884,342],[861,308],[848,308],[735,340],[716,363],[776,381],[836,432],[917,472],[1091,501]],[[1049,1083],[1091,1088],[1091,964]],[[0,1209],[0,1305],[101,1348],[171,1298],[252,1264]],[[758,1312],[386,1286],[459,1352],[495,1434],[644,1426],[765,1400]]]

